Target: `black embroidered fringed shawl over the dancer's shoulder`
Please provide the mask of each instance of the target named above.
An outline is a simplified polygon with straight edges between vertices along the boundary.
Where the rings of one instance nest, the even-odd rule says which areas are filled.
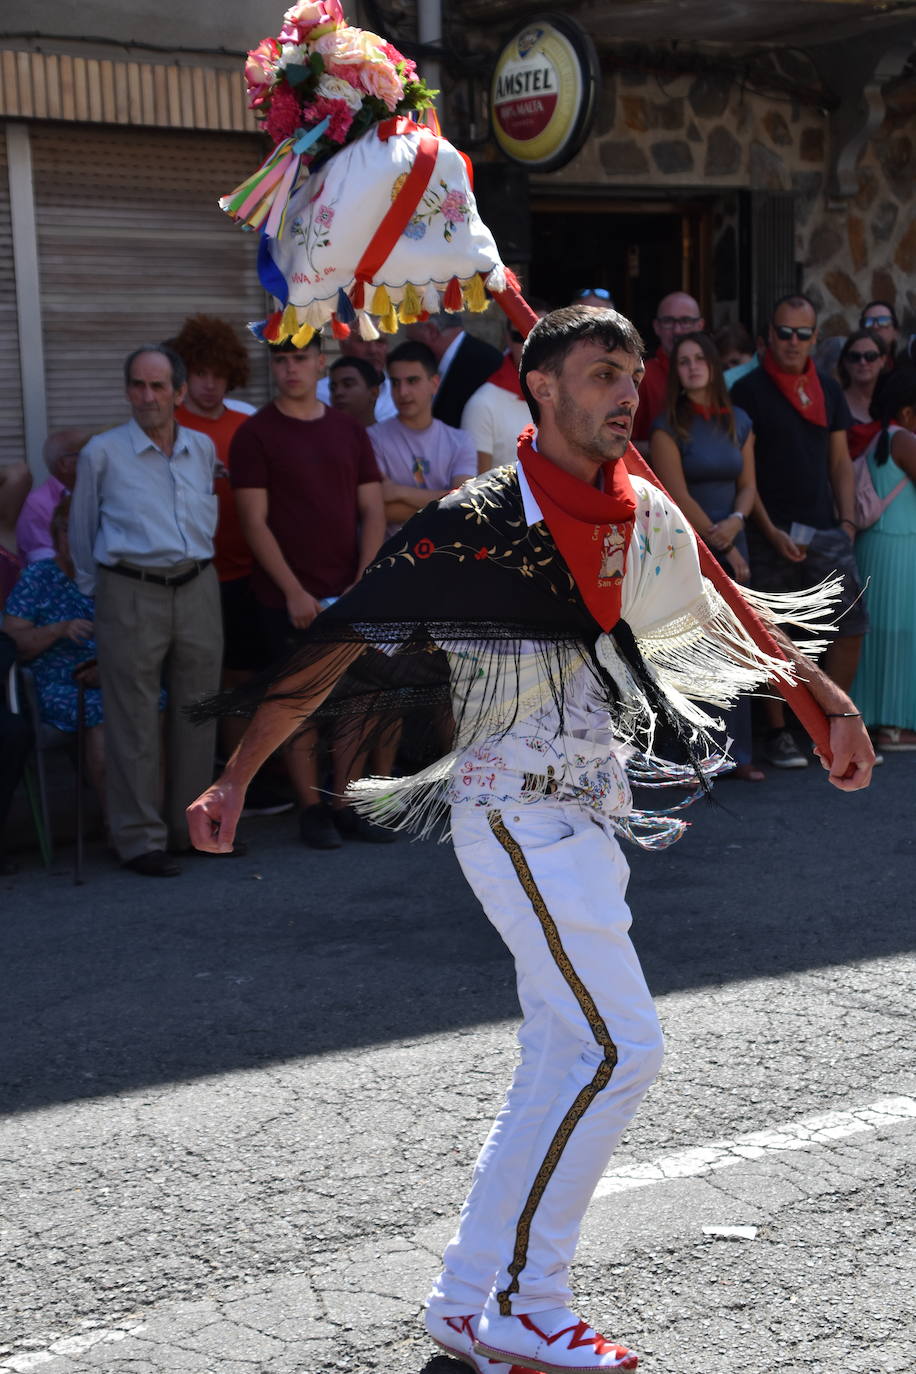
[[[335,682],[316,719],[332,719],[338,732],[358,732],[364,750],[412,720],[412,736],[417,723],[420,730],[427,727],[441,756],[449,745],[467,747],[514,725],[520,709],[519,665],[536,655],[540,705],[556,708],[562,734],[566,682],[582,664],[611,717],[619,720],[625,710],[619,682],[596,654],[600,635],[547,525],[529,526],[515,467],[503,467],[417,513],[383,545],[352,591],[291,638],[283,661],[198,703],[192,714],[198,720],[251,714],[262,701],[304,701]],[[702,754],[709,741],[659,690],[629,627],[618,621],[611,635],[630,688],[636,686],[647,706],[634,728],[630,690],[626,738],[651,754],[654,730],[661,725],[680,779],[706,787]],[[353,644],[368,651],[341,673],[341,653]],[[527,697],[523,714],[530,714]],[[404,780],[398,785],[409,791]],[[413,818],[400,823],[411,829]],[[428,823],[426,796],[416,807],[416,824],[427,829]]]

